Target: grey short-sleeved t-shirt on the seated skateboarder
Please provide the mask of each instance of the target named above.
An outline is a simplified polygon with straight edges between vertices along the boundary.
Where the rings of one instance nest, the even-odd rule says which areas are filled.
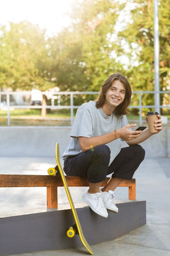
[[[78,137],[100,136],[113,132],[115,128],[117,130],[128,125],[126,115],[118,116],[112,113],[110,116],[107,116],[102,108],[96,108],[95,105],[95,101],[89,101],[78,108],[71,129],[69,146],[62,155],[63,160],[82,152]],[[121,139],[115,139],[106,145],[110,148],[111,164],[121,150]]]

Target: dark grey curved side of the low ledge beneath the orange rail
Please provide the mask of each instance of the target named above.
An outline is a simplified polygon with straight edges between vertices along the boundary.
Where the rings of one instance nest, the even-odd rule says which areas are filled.
[[[119,202],[119,213],[103,218],[87,206],[77,208],[84,236],[90,245],[124,235],[146,224],[146,201]],[[66,236],[74,219],[70,209],[0,218],[0,256],[84,247],[78,235]]]

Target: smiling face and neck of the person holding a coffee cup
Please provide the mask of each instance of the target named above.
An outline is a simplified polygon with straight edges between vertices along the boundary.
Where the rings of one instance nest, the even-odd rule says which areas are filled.
[[[125,99],[126,89],[123,83],[119,80],[113,81],[111,87],[106,91],[105,103],[102,110],[106,115],[111,115],[117,106]]]

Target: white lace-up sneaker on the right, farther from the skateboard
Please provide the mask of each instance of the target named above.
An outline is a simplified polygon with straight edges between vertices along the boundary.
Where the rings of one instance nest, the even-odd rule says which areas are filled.
[[[102,188],[100,189],[101,196],[103,198],[104,204],[106,208],[110,211],[114,211],[115,213],[118,213],[118,208],[115,204],[115,195],[112,190],[109,190],[108,192],[103,192]]]

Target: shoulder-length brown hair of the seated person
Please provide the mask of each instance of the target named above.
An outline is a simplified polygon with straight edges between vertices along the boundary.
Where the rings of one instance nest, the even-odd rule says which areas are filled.
[[[112,86],[112,83],[115,80],[119,80],[121,83],[123,83],[126,93],[125,93],[124,101],[115,108],[114,112],[117,115],[127,115],[129,114],[129,112],[127,111],[127,108],[130,105],[132,89],[126,77],[119,72],[115,74],[111,74],[102,85],[101,90],[99,92],[99,97],[96,100],[96,108],[102,108],[102,106],[106,101],[106,91]]]

